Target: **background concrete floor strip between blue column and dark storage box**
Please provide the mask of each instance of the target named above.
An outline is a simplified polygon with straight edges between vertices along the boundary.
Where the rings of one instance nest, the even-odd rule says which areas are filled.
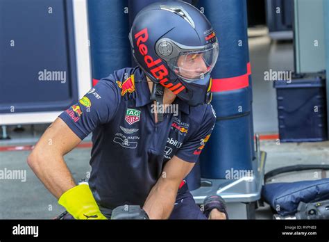
[[[249,50],[253,78],[254,131],[260,134],[278,134],[276,89],[273,88],[273,81],[264,81],[264,72],[270,69],[294,70],[292,42],[271,42],[268,35],[261,35],[249,38]]]

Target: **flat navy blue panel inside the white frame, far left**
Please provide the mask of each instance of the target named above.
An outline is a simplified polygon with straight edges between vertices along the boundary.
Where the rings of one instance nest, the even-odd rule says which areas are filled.
[[[74,104],[72,2],[3,0],[0,16],[0,113],[62,111]]]

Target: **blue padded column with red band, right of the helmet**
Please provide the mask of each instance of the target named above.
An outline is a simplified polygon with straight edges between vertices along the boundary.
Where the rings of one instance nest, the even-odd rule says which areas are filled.
[[[201,154],[201,177],[226,179],[231,169],[252,169],[246,2],[203,0],[198,7],[214,26],[219,39],[219,61],[212,72],[212,106],[217,123]]]

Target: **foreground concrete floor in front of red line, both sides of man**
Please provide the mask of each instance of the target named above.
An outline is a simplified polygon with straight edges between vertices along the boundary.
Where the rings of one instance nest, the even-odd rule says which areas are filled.
[[[329,142],[321,143],[281,143],[266,140],[261,142],[261,150],[267,152],[266,172],[282,166],[294,164],[328,164]],[[25,170],[26,181],[0,180],[0,218],[53,218],[62,212],[57,200],[35,177],[28,167],[26,158],[29,151],[0,152],[0,170]],[[74,179],[79,181],[87,177],[90,148],[76,148],[65,156],[65,161]],[[298,181],[300,179],[317,179],[321,172],[298,172],[276,177],[275,181]],[[329,173],[328,173],[329,177]],[[256,218],[271,219],[269,206],[258,209]]]

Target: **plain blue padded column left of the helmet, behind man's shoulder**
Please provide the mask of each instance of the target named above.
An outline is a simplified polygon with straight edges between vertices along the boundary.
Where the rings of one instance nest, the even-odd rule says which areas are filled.
[[[130,67],[128,0],[89,0],[92,77]]]

